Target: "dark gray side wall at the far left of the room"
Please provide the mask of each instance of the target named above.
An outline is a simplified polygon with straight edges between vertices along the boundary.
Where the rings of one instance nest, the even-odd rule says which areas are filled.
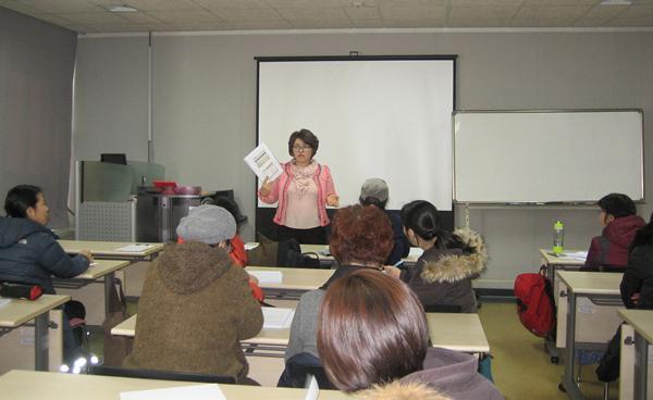
[[[67,226],[76,42],[72,30],[0,7],[0,198],[41,187],[54,227]]]

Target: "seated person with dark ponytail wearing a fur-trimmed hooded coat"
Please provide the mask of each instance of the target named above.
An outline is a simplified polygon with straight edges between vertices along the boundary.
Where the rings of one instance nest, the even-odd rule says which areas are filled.
[[[471,279],[485,268],[488,252],[480,235],[469,229],[451,234],[440,226],[438,209],[426,200],[402,208],[402,223],[411,245],[424,250],[415,266],[399,271],[386,266],[415,291],[424,307],[454,305],[477,312]]]

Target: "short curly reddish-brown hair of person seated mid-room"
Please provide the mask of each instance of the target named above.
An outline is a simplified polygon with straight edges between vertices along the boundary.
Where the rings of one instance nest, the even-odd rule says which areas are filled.
[[[341,264],[356,262],[381,265],[393,246],[392,224],[382,210],[356,204],[335,213],[329,248]]]

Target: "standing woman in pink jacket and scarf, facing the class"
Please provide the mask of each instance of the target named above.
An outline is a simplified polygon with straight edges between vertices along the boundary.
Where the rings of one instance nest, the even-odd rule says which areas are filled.
[[[338,207],[331,171],[313,160],[320,141],[308,129],[294,132],[288,139],[293,158],[283,163],[283,173],[273,182],[263,180],[258,197],[276,205],[272,220],[279,225],[279,240],[297,239],[300,243],[326,242],[326,205]]]

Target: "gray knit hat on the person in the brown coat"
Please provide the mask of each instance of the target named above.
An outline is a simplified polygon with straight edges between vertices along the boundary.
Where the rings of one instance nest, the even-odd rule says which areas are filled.
[[[236,222],[232,214],[218,205],[195,207],[180,221],[177,236],[186,241],[218,245],[236,235]]]

